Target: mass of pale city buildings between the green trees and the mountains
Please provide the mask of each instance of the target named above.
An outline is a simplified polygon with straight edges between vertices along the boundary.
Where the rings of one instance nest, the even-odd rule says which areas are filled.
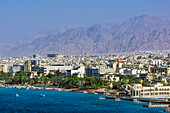
[[[145,52],[122,55],[48,54],[47,57],[7,57],[0,58],[0,71],[12,72],[15,75],[15,72],[24,70],[30,78],[51,73],[56,76],[101,77],[108,81],[115,79],[112,75],[131,75],[148,82],[162,79],[168,84],[168,54]]]

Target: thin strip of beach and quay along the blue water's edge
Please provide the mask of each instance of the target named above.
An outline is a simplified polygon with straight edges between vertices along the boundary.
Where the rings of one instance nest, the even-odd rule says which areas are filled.
[[[33,86],[33,85],[4,85],[0,84],[0,87],[2,88],[23,88],[26,90],[29,89],[42,89],[42,90],[55,90],[55,91],[66,91],[66,92],[76,92],[76,93],[87,93],[87,94],[100,94],[105,96],[105,99],[120,99],[120,100],[128,100],[128,101],[134,101],[135,99],[140,101],[140,102],[152,102],[152,103],[162,103],[162,104],[169,104],[170,101],[165,101],[165,100],[160,100],[158,98],[133,98],[133,97],[119,97],[119,96],[108,96],[106,91],[102,91],[100,89],[78,89],[78,88],[71,88],[71,89],[66,89],[66,88],[58,88],[58,87],[45,87],[45,86]],[[135,102],[135,101],[134,101]]]

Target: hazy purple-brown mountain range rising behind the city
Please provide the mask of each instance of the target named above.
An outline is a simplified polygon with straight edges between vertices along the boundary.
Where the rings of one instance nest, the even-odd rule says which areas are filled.
[[[88,28],[59,27],[10,44],[0,45],[0,57],[49,53],[64,55],[113,54],[170,50],[170,18],[139,16],[123,23]]]

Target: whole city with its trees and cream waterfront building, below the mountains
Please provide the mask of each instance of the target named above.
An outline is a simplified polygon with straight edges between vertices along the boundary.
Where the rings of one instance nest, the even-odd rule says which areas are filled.
[[[1,84],[103,89],[131,97],[170,97],[170,54],[150,51],[116,55],[0,58]],[[148,87],[150,86],[150,87]]]

